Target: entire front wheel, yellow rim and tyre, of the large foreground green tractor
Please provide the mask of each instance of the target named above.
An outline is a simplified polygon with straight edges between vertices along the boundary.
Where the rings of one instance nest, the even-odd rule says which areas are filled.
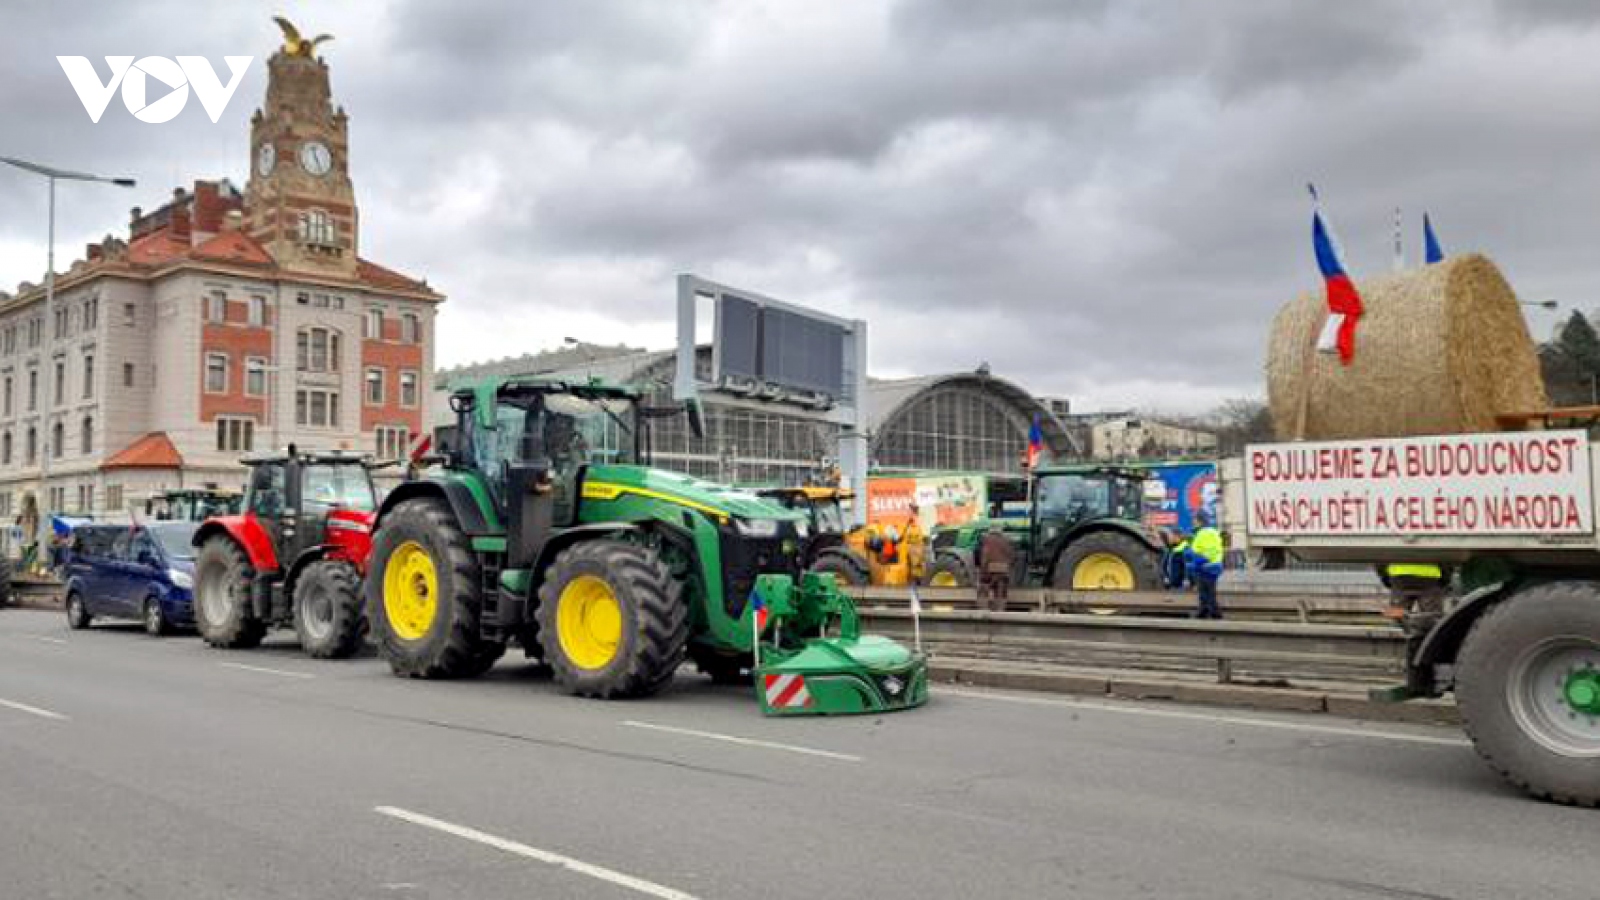
[[[582,697],[645,697],[683,663],[690,610],[656,551],[613,538],[570,546],[539,588],[539,642],[555,684]]]

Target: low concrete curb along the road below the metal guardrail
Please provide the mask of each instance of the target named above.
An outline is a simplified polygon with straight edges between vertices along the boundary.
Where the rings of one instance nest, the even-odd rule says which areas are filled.
[[[1037,690],[1042,693],[1077,693],[1117,700],[1166,700],[1208,706],[1325,713],[1371,722],[1413,722],[1424,725],[1459,725],[1456,705],[1448,700],[1414,700],[1379,703],[1355,692],[1330,692],[1296,687],[1264,687],[1254,684],[1211,684],[1202,681],[1163,679],[1158,674],[1075,673],[1050,669],[1006,669],[973,663],[928,663],[928,677],[946,684]]]

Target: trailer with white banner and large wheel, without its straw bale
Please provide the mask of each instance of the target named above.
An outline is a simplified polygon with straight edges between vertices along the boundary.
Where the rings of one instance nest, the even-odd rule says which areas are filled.
[[[1259,444],[1224,466],[1256,559],[1442,569],[1405,610],[1406,682],[1453,692],[1478,754],[1530,794],[1600,804],[1600,444],[1507,431]]]

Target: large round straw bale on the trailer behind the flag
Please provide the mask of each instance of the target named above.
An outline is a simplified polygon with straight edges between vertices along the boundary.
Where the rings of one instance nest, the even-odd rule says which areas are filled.
[[[1357,283],[1355,359],[1318,352],[1322,290],[1272,320],[1267,399],[1283,440],[1496,431],[1494,416],[1549,407],[1517,295],[1472,253]]]

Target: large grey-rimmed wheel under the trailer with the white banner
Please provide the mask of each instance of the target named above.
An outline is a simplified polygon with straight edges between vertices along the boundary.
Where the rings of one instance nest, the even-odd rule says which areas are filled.
[[[1587,644],[1600,653],[1600,583],[1550,581],[1518,591],[1472,625],[1456,655],[1456,703],[1478,756],[1534,798],[1600,806],[1600,738],[1563,730],[1586,717],[1562,709],[1549,669],[1538,677],[1541,647]],[[1547,695],[1544,705],[1533,695]],[[1578,737],[1587,733],[1587,738]],[[1565,749],[1565,753],[1562,751]]]

